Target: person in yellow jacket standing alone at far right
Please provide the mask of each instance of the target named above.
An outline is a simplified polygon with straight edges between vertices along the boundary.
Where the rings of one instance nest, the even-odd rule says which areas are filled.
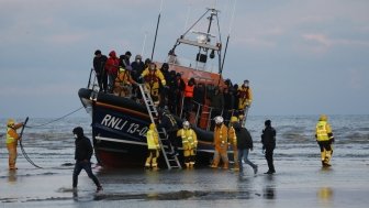
[[[321,149],[322,166],[331,166],[329,161],[332,158],[332,144],[334,143],[334,136],[332,128],[328,123],[328,119],[325,114],[321,114],[315,127],[315,139]]]

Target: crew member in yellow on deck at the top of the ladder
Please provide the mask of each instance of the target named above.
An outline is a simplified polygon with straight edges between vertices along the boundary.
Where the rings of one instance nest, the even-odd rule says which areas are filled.
[[[153,101],[157,106],[159,103],[159,81],[161,81],[164,87],[167,84],[163,73],[156,68],[155,63],[150,63],[141,77],[144,78],[146,88],[149,90]]]

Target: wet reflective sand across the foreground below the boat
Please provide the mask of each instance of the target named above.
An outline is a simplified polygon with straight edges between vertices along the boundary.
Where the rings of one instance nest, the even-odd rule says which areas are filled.
[[[96,194],[85,172],[71,189],[72,166],[33,168],[20,158],[15,172],[1,158],[0,207],[367,207],[367,160],[333,161],[322,168],[315,158],[276,161],[277,174],[245,166],[244,176],[223,169],[159,172],[94,167],[104,190]]]

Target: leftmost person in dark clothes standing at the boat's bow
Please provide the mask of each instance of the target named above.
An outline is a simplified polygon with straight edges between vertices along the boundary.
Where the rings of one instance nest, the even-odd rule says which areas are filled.
[[[104,92],[107,92],[108,89],[108,75],[104,72],[104,65],[108,57],[105,55],[102,55],[100,50],[97,50],[94,52],[93,70],[98,78],[99,91]]]

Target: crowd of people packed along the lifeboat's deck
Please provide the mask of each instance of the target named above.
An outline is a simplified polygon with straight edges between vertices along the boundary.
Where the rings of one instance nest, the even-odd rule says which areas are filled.
[[[100,50],[96,51],[93,69],[100,91],[139,100],[136,84],[144,83],[156,106],[167,107],[171,113],[187,120],[191,111],[202,108],[205,100],[210,101],[209,107],[212,109],[210,119],[223,116],[226,122],[232,116],[245,114],[251,105],[253,92],[248,80],[233,85],[226,79],[226,87],[223,88],[193,78],[185,81],[180,73],[169,70],[167,63],[158,68],[149,58],[143,62],[139,54],[134,62],[131,62],[131,56],[128,51],[119,57],[115,51],[111,51],[109,57],[102,55]]]

